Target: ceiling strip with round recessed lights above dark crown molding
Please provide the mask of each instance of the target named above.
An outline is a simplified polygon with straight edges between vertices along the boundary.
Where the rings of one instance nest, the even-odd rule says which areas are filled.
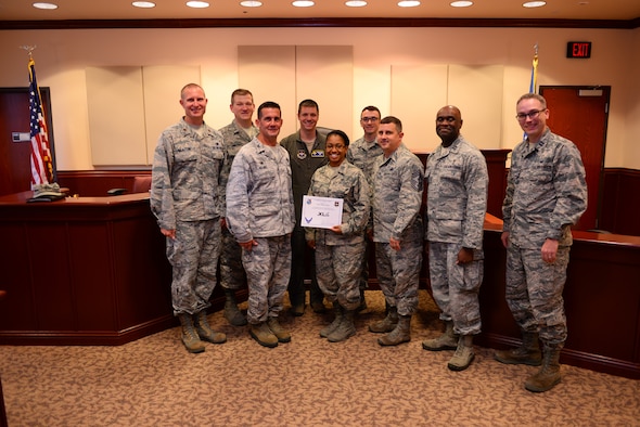
[[[0,0],[0,22],[56,20],[196,20],[196,18],[516,18],[622,20],[640,18],[640,0],[547,0],[537,9],[525,0],[474,0],[470,8],[451,8],[452,0],[422,0],[415,8],[398,8],[397,0],[368,0],[363,8],[347,8],[345,0],[315,0],[310,8],[294,8],[292,0],[260,0],[261,8],[244,8],[241,0],[208,0],[209,8],[191,9],[187,0],[153,0],[153,9],[139,9],[132,0],[41,0],[56,10],[38,10],[36,0]]]

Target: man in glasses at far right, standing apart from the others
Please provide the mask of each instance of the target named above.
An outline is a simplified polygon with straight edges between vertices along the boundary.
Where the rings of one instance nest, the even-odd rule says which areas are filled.
[[[562,292],[571,225],[587,209],[580,152],[549,130],[548,118],[545,98],[527,93],[517,101],[516,119],[526,138],[513,148],[502,205],[505,297],[523,342],[495,357],[502,363],[541,365],[525,381],[534,392],[550,390],[561,380],[559,359],[567,334]]]

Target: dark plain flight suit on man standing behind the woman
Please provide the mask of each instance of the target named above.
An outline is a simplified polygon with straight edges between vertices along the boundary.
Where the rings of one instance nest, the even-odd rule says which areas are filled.
[[[304,303],[305,268],[306,261],[308,259],[311,263],[311,301],[322,301],[322,292],[318,287],[318,281],[316,279],[313,254],[306,244],[305,229],[300,225],[300,218],[303,211],[303,196],[309,191],[311,177],[319,167],[324,166],[328,163],[327,155],[324,153],[327,137],[318,131],[316,132],[316,142],[313,143],[311,153],[309,153],[307,145],[300,140],[299,131],[282,139],[280,144],[289,152],[290,155],[293,199],[295,205],[295,230],[291,238],[293,250],[293,269],[291,271],[289,296],[292,299],[292,305],[295,306],[296,303]]]

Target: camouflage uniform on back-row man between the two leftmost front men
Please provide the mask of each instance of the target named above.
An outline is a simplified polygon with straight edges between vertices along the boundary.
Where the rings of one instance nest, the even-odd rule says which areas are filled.
[[[258,130],[255,126],[252,126],[253,134],[257,134]],[[253,137],[248,135],[243,129],[241,129],[233,120],[230,125],[225,126],[220,129],[222,139],[225,140],[225,146],[227,147],[227,154],[229,160],[226,167],[222,169],[222,176],[226,181],[229,179],[229,172],[231,171],[231,164],[235,154],[240,148],[252,140]],[[242,249],[233,235],[229,232],[228,228],[222,228],[222,253],[220,254],[220,285],[225,289],[240,289],[246,283],[246,273],[242,267]]]

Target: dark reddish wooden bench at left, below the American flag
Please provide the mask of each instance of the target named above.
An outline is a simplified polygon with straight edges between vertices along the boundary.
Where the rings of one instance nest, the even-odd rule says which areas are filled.
[[[119,345],[176,323],[171,269],[149,194],[46,204],[28,197],[0,196],[0,231],[16,238],[0,247],[0,258],[12,261],[0,342]]]

